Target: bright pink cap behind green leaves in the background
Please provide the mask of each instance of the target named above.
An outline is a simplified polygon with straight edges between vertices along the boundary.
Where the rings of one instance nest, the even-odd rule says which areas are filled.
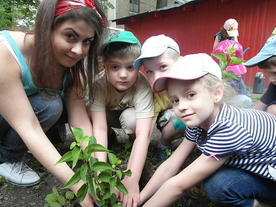
[[[236,51],[234,52],[235,57],[243,59],[242,45],[239,44],[238,42],[235,42],[234,40],[221,41],[220,43],[218,43],[216,45],[216,47],[213,49],[212,53],[224,54],[224,55],[226,55],[226,61],[229,61],[229,54],[227,54],[226,52],[228,52],[228,47],[231,47],[233,44],[235,44],[234,49],[236,49]],[[212,58],[214,61],[216,61],[219,64],[219,59],[217,59],[213,55],[212,55]],[[242,74],[246,73],[246,68],[244,67],[243,63],[232,64],[225,69],[226,72],[229,70],[233,71],[235,73],[235,75],[242,75]]]

